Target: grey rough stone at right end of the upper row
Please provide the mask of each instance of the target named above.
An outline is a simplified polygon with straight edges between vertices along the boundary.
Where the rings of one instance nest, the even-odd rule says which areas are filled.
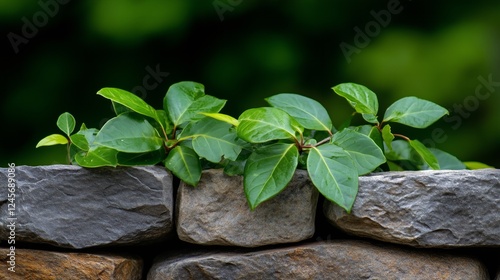
[[[500,170],[442,170],[362,176],[350,214],[331,203],[342,230],[416,247],[500,247]]]

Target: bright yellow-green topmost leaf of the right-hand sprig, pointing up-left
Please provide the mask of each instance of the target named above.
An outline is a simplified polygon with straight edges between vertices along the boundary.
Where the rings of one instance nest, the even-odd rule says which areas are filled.
[[[363,118],[371,123],[377,123],[378,112],[377,95],[365,86],[355,83],[343,83],[334,86],[333,91],[347,99],[356,112],[363,115]]]

